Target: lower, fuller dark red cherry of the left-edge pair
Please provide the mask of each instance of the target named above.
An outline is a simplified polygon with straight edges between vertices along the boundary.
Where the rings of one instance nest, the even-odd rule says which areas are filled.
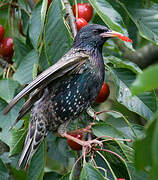
[[[7,37],[0,42],[0,55],[2,57],[12,57],[14,53],[13,38]]]

